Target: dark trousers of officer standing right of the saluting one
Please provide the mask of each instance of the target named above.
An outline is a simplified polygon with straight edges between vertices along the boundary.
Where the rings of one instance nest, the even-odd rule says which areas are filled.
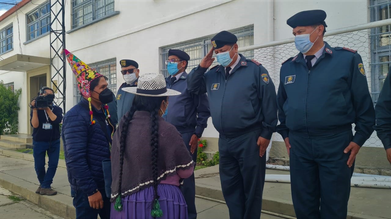
[[[346,219],[353,169],[344,131],[324,138],[289,133],[292,201],[297,219]]]

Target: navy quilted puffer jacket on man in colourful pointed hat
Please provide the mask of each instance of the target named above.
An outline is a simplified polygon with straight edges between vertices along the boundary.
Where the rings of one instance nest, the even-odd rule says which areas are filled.
[[[88,196],[104,189],[102,161],[110,158],[109,130],[101,126],[105,115],[93,106],[92,111],[96,123],[90,125],[88,101],[83,98],[65,114],[61,130],[70,186]]]

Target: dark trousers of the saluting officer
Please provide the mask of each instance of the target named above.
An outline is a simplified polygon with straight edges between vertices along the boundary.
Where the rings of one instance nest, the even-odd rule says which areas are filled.
[[[221,189],[231,219],[260,218],[266,155],[259,156],[259,136],[256,130],[219,138]]]

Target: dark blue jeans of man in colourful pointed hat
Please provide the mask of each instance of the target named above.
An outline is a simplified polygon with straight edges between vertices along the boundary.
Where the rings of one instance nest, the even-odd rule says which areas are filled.
[[[104,189],[99,190],[103,198],[103,208],[94,209],[90,207],[88,196],[82,190],[71,189],[73,205],[76,208],[76,219],[97,219],[98,214],[100,219],[110,218],[111,203],[110,199],[105,196]]]

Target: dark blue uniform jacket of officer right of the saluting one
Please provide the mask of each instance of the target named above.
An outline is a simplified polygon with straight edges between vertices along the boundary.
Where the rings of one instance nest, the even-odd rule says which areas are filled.
[[[373,132],[375,109],[361,56],[352,49],[325,50],[308,71],[303,54],[282,64],[277,94],[278,133],[322,138],[352,129],[363,145]]]

